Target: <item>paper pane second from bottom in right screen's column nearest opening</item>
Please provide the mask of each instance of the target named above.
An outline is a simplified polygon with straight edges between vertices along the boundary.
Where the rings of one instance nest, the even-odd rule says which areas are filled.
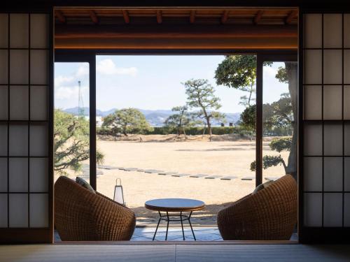
[[[321,157],[304,157],[304,191],[322,191]]]

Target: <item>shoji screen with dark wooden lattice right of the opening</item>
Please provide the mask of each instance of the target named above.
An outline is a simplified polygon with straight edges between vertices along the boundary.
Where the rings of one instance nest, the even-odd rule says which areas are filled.
[[[304,13],[301,26],[300,219],[322,238],[350,227],[350,14]]]

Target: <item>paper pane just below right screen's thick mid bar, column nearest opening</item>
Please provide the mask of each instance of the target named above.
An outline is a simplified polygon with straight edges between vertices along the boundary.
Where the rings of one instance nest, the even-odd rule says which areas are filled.
[[[304,155],[322,155],[322,126],[317,124],[304,125]]]

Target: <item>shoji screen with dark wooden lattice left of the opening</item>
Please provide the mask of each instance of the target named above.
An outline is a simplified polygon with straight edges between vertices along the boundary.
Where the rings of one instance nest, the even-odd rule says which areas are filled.
[[[50,17],[0,13],[0,242],[52,238]]]

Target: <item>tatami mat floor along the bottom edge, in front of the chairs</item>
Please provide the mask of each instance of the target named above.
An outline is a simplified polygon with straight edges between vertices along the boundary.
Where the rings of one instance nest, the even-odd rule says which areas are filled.
[[[1,262],[350,261],[348,245],[8,245]]]

